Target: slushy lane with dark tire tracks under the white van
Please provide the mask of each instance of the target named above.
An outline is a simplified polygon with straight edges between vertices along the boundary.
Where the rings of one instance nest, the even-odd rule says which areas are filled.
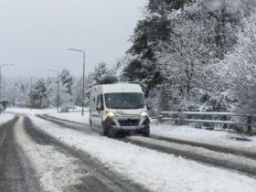
[[[39,115],[39,118],[60,126],[64,123],[65,127],[72,129],[73,125],[79,126],[80,123],[70,123],[70,121],[62,120],[47,115]],[[69,125],[68,125],[69,124]],[[89,126],[89,125],[88,125]],[[86,128],[86,125],[83,125]],[[84,130],[83,128],[83,130]],[[77,129],[74,128],[76,130]],[[89,129],[89,128],[87,128]],[[90,131],[90,130],[89,130]],[[187,159],[195,160],[208,165],[219,166],[229,170],[238,171],[241,174],[256,176],[256,161],[254,155],[237,153],[237,151],[229,150],[225,147],[209,146],[208,144],[191,143],[186,141],[177,141],[153,135],[151,138],[145,137],[126,137],[118,138],[121,142],[137,144],[149,149],[156,150],[171,155],[181,155]],[[164,144],[165,143],[165,144]],[[248,155],[252,158],[249,158]]]

